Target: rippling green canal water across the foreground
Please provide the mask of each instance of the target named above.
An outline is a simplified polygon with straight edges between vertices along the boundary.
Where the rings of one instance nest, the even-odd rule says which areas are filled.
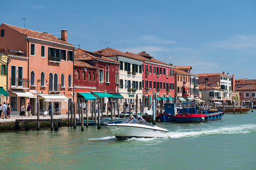
[[[160,123],[170,138],[118,140],[103,126],[0,133],[1,169],[256,169],[256,112]]]

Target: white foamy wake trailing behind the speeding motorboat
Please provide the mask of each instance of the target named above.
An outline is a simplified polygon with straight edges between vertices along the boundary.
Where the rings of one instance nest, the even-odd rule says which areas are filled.
[[[188,129],[187,129],[188,130]],[[197,137],[201,135],[209,134],[238,134],[238,133],[249,133],[251,131],[256,131],[256,124],[244,124],[244,125],[231,125],[226,127],[210,127],[207,130],[198,129],[198,131],[182,131],[169,132],[169,137],[171,138],[182,138],[182,137]]]

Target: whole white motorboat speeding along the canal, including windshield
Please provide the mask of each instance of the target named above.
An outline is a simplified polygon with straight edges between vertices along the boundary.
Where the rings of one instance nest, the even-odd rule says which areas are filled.
[[[169,137],[167,129],[155,126],[144,120],[129,119],[117,124],[106,123],[106,126],[120,140],[132,137]]]

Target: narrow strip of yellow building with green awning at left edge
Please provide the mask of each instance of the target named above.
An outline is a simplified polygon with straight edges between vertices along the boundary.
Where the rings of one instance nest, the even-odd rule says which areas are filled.
[[[7,92],[7,59],[8,55],[0,53],[0,102],[3,104],[9,96]]]

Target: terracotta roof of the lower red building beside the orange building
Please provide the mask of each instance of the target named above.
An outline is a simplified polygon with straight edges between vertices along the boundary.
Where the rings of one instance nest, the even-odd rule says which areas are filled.
[[[104,60],[104,61],[113,62],[113,63],[117,63],[117,64],[119,63],[118,61],[104,57],[101,54],[93,53],[93,52],[83,50],[80,48],[74,49],[74,59],[79,60],[79,61]]]

